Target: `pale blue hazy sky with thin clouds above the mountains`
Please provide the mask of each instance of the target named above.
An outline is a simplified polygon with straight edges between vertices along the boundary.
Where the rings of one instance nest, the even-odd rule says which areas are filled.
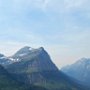
[[[90,57],[90,0],[0,0],[0,52],[43,46],[60,68]]]

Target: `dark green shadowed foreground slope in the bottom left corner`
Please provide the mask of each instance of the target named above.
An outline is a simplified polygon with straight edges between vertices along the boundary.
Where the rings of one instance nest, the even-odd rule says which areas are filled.
[[[43,87],[25,86],[23,83],[16,81],[11,74],[0,65],[0,90],[47,90]]]

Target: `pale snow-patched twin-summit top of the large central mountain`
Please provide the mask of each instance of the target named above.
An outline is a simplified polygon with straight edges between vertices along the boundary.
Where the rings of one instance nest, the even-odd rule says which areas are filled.
[[[19,49],[13,56],[11,56],[10,58],[14,61],[20,61],[23,58],[27,58],[27,57],[33,57],[33,56],[37,56],[40,54],[47,54],[47,52],[44,50],[43,47],[40,48],[31,48],[29,46],[25,46],[21,49]]]

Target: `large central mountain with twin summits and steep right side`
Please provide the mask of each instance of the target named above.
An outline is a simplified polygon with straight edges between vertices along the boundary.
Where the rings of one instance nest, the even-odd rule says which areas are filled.
[[[43,47],[24,47],[11,56],[15,62],[7,70],[16,80],[48,90],[88,90],[59,71]]]

